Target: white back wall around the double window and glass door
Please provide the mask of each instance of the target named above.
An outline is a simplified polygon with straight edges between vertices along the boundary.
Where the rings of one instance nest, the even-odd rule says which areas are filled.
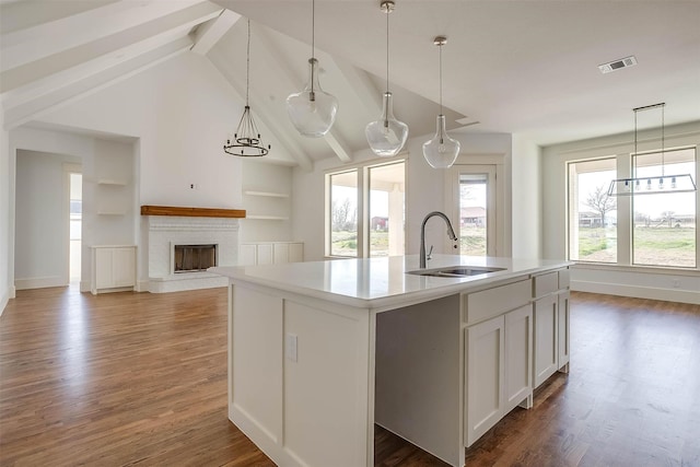
[[[510,255],[511,245],[511,136],[504,133],[454,133],[451,136],[462,143],[460,155],[468,161],[469,155],[503,155],[505,161],[503,196],[505,199],[505,211],[503,213],[503,242],[504,254]],[[427,213],[431,211],[444,211],[444,172],[432,168],[425,162],[422,153],[422,144],[432,135],[415,137],[406,143],[408,153],[408,175],[406,180],[406,254],[418,254],[420,246],[420,225]],[[353,154],[353,163],[366,161],[382,162],[371,150],[366,149]],[[352,165],[352,164],[345,164]],[[345,166],[337,157],[328,157],[314,164],[313,172],[304,172],[294,168],[294,198],[292,201],[293,212],[293,237],[303,241],[305,260],[319,260],[324,258],[324,175],[328,171]],[[444,229],[438,223],[429,223],[427,235],[431,238],[442,238],[444,236],[444,248],[448,242],[444,235]],[[436,252],[441,245],[435,241]],[[450,250],[451,252],[451,250]]]

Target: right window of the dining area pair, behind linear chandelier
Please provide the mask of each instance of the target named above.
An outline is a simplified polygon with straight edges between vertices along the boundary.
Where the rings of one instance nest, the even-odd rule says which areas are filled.
[[[663,159],[662,159],[663,155]],[[672,184],[673,175],[696,174],[696,151],[639,154],[637,177]],[[660,175],[668,177],[658,177]],[[658,177],[658,178],[656,178]],[[664,182],[662,182],[664,180]],[[654,192],[632,197],[632,262],[635,265],[696,267],[696,194]]]

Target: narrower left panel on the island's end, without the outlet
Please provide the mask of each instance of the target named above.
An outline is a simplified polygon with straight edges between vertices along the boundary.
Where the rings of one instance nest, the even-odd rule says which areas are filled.
[[[267,453],[282,442],[283,302],[236,284],[229,300],[229,418]]]

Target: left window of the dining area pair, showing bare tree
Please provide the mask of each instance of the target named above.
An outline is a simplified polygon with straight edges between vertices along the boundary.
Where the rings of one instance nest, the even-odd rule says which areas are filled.
[[[569,259],[617,262],[617,198],[608,196],[616,164],[615,157],[568,164]]]

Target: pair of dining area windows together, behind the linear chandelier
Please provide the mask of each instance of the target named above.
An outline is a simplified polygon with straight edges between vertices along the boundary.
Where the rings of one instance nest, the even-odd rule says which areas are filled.
[[[569,162],[569,259],[697,267],[698,194],[670,189],[675,175],[690,175],[697,180],[695,148]],[[617,167],[626,167],[632,177],[641,178],[641,189],[627,196],[608,196],[610,182],[625,177],[618,177]],[[653,184],[649,190],[648,182]],[[665,189],[658,189],[660,183]]]

